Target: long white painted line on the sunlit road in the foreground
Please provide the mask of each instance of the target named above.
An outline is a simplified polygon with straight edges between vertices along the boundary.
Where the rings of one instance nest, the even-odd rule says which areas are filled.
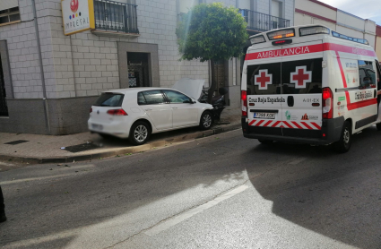
[[[212,208],[212,206],[217,205],[218,203],[225,201],[229,199],[230,197],[233,197],[234,195],[237,195],[238,193],[241,193],[245,190],[247,190],[249,186],[248,185],[241,185],[238,186],[237,188],[229,191],[228,193],[224,193],[212,201],[206,202],[205,204],[198,206],[192,210],[188,210],[184,213],[179,214],[178,216],[175,216],[171,219],[165,220],[163,222],[160,222],[158,225],[154,226],[153,228],[148,229],[147,231],[144,232],[144,234],[148,236],[155,236],[159,234],[160,232],[167,230],[168,228],[171,228],[178,223],[191,218],[192,216],[196,215],[197,213],[202,212],[203,210],[207,210]]]

